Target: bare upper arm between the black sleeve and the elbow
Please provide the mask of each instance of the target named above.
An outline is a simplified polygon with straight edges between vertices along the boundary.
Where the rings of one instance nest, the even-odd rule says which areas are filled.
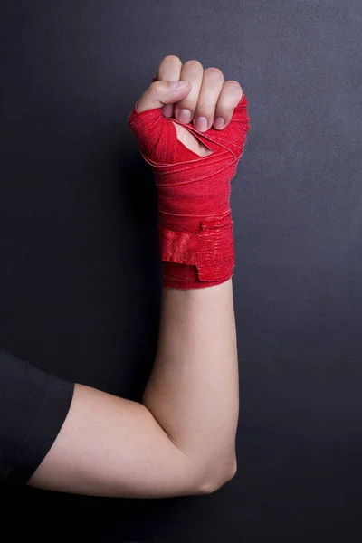
[[[143,404],[75,385],[50,451],[28,484],[81,494],[158,498],[204,493],[195,463]]]

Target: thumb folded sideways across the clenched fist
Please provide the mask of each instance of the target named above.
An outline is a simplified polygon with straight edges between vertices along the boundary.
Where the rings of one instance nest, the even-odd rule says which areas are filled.
[[[189,81],[154,81],[137,101],[138,113],[162,108],[165,104],[173,104],[186,98],[191,90]]]

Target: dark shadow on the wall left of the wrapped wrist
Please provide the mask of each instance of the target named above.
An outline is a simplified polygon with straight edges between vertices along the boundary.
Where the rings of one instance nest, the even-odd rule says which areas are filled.
[[[120,154],[118,166],[122,207],[126,212],[129,235],[135,245],[132,247],[132,262],[135,266],[132,274],[139,285],[139,367],[130,394],[133,400],[141,401],[154,366],[160,319],[162,274],[158,257],[157,187],[153,173],[140,156],[137,146]],[[121,220],[125,224],[125,218]]]

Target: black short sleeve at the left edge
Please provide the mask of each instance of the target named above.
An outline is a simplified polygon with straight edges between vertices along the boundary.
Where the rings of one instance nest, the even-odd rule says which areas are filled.
[[[24,484],[71,406],[74,384],[0,348],[0,481]]]

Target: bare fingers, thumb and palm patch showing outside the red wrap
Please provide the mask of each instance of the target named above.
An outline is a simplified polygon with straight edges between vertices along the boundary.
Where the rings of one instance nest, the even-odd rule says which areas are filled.
[[[193,122],[195,129],[205,132],[214,125],[215,129],[224,129],[233,117],[233,110],[243,98],[243,90],[237,81],[224,81],[224,75],[218,68],[206,68],[201,62],[192,60],[184,64],[175,55],[167,55],[157,68],[157,81],[151,83],[138,100],[138,111],[162,107],[167,118],[174,117],[183,124]],[[187,81],[184,90],[172,90],[167,81]],[[188,116],[186,111],[189,111]],[[206,119],[205,126],[200,118]],[[224,126],[217,122],[224,119]],[[177,139],[186,148],[200,157],[212,151],[195,138],[180,124],[174,123]]]

